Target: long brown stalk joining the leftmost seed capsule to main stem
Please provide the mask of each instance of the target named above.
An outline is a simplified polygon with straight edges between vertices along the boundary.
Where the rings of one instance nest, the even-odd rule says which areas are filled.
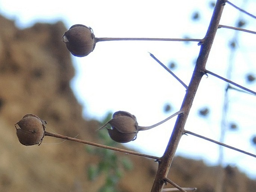
[[[101,145],[101,144],[98,144],[98,143],[93,143],[93,142],[89,142],[89,141],[85,141],[85,140],[81,140],[81,139],[75,139],[73,137],[63,136],[61,134],[51,133],[51,132],[48,132],[48,131],[44,132],[44,136],[50,136],[50,137],[56,137],[56,138],[60,138],[60,139],[71,140],[71,141],[75,141],[75,142],[79,142],[79,143],[84,143],[84,144],[87,144],[87,145],[101,147],[101,148],[104,148],[104,149],[110,149],[110,150],[113,150],[113,151],[123,152],[123,153],[126,153],[126,154],[137,155],[137,156],[141,156],[141,157],[147,157],[147,158],[155,159],[156,161],[160,160],[159,157],[156,157],[156,156],[153,156],[153,155],[147,155],[147,154],[142,154],[142,153],[138,153],[138,152],[134,152],[134,151],[129,151],[129,150],[126,150],[126,149],[120,149],[120,148],[115,148],[115,147],[111,147],[111,146],[107,146],[107,145]]]

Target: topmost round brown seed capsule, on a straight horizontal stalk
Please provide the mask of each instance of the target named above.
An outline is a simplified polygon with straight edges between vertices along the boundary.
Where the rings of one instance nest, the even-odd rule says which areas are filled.
[[[76,24],[70,27],[62,36],[67,49],[72,55],[84,57],[93,51],[96,41],[92,28]]]

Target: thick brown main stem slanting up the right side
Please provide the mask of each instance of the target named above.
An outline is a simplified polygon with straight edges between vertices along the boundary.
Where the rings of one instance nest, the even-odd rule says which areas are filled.
[[[204,43],[201,45],[200,53],[197,58],[197,64],[189,83],[186,95],[183,99],[181,110],[183,114],[179,114],[176,120],[175,126],[173,128],[172,135],[170,137],[169,143],[166,147],[163,157],[160,158],[158,162],[158,170],[155,176],[151,192],[161,192],[164,186],[164,178],[167,177],[169,168],[172,164],[173,157],[175,155],[176,149],[179,144],[179,140],[184,133],[184,127],[186,120],[188,118],[189,111],[191,109],[195,93],[201,81],[202,76],[204,75],[206,62],[212,47],[212,43],[216,34],[216,31],[219,26],[220,17],[224,7],[224,1],[217,0],[212,19],[210,21],[209,28],[204,37]]]

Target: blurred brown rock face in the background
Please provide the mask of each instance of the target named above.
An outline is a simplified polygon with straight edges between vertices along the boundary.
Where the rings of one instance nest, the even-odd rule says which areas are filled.
[[[19,30],[0,16],[0,191],[96,192],[104,182],[104,177],[88,180],[87,167],[98,156],[88,154],[83,144],[45,137],[40,146],[23,146],[16,137],[14,124],[32,113],[47,121],[47,131],[101,142],[95,132],[98,123],[83,119],[70,88],[74,68],[61,41],[66,30],[62,22]],[[120,181],[120,190],[150,191],[157,163],[118,155],[135,162]],[[213,192],[218,171],[202,161],[177,157],[170,172],[170,179],[183,187]],[[256,182],[236,168],[229,166],[223,174],[225,192],[256,189]]]

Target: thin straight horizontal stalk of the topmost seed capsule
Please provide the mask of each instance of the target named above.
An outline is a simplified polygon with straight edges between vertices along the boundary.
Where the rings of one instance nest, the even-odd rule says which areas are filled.
[[[126,37],[120,37],[120,38],[115,38],[115,37],[100,37],[100,38],[95,38],[96,42],[100,41],[196,41],[196,42],[201,42],[202,39],[193,39],[193,38],[126,38]]]

